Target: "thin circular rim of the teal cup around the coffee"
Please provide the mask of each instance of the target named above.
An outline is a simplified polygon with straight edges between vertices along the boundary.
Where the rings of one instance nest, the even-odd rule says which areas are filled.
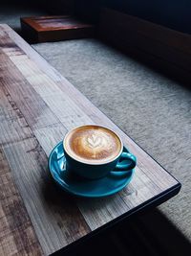
[[[117,156],[116,156],[115,158],[113,158],[112,160],[104,161],[104,162],[102,162],[102,163],[94,163],[94,162],[90,163],[90,162],[88,162],[88,160],[87,160],[87,161],[86,161],[86,160],[83,161],[83,160],[80,160],[80,159],[76,159],[76,158],[74,157],[74,155],[71,155],[70,152],[67,151],[67,149],[66,149],[66,147],[65,147],[66,138],[67,138],[67,136],[68,136],[72,131],[74,131],[75,129],[77,129],[77,128],[84,128],[84,127],[106,128],[106,129],[109,129],[110,131],[114,132],[114,134],[117,136],[118,140],[120,141],[120,145],[121,145],[121,149],[120,149],[120,151],[118,152]],[[78,126],[78,127],[75,127],[75,128],[70,129],[70,130],[66,133],[66,135],[64,136],[64,139],[62,140],[62,145],[63,145],[64,151],[66,151],[67,154],[68,154],[71,158],[73,158],[75,161],[77,161],[77,162],[79,162],[79,163],[87,164],[87,165],[104,165],[104,164],[112,163],[113,161],[115,161],[115,160],[120,156],[120,154],[121,154],[122,151],[123,151],[123,143],[122,143],[121,138],[117,135],[117,132],[114,131],[114,130],[111,129],[111,128],[107,128],[107,127],[99,126],[99,125],[83,125],[83,126]]]

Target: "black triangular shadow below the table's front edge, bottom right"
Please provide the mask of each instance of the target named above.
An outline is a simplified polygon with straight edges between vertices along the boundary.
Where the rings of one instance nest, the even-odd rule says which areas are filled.
[[[113,226],[54,256],[183,256],[191,244],[158,209]]]

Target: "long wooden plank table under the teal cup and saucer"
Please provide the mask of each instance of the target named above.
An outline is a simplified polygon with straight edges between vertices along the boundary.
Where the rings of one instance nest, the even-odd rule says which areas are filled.
[[[113,128],[137,155],[132,182],[109,198],[73,198],[47,158],[67,130]],[[0,255],[49,255],[175,196],[180,183],[7,25],[0,25]]]

